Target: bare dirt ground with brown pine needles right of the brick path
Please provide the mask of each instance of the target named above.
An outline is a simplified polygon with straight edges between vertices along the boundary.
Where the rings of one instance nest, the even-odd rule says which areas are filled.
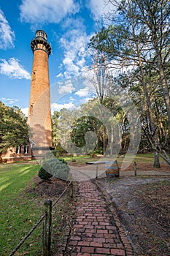
[[[170,255],[170,177],[125,176],[98,185],[112,201],[136,256]]]

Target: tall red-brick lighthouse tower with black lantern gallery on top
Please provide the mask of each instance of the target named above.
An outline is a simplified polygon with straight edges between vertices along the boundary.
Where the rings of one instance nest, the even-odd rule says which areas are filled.
[[[31,127],[31,142],[34,157],[40,157],[52,147],[52,125],[50,112],[50,82],[48,56],[51,53],[45,31],[37,30],[31,41],[34,54],[28,124]]]

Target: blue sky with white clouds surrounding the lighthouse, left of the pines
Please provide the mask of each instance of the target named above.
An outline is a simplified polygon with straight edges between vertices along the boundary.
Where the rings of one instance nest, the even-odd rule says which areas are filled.
[[[49,57],[51,97],[54,110],[71,108],[75,101],[93,94],[87,83],[79,83],[90,63],[87,44],[109,6],[104,0],[0,0],[0,100],[27,113],[31,86],[35,32],[47,33],[53,53]],[[57,91],[56,91],[57,88]],[[53,91],[53,89],[52,89]]]

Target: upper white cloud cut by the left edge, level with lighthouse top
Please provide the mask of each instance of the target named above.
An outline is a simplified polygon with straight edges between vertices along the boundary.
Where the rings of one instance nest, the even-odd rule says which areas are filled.
[[[0,10],[0,49],[6,50],[7,48],[14,47],[14,39],[15,33],[9,26],[9,23],[4,16],[4,12]]]

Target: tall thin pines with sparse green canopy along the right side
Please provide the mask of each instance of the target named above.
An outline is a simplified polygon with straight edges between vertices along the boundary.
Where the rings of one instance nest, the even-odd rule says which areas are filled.
[[[109,2],[113,6],[107,17],[109,26],[96,32],[89,48],[106,56],[107,69],[119,72],[112,81],[131,94],[141,117],[145,140],[142,144],[155,151],[155,166],[159,167],[158,154],[170,163],[166,154],[170,129],[170,3],[168,0]]]

